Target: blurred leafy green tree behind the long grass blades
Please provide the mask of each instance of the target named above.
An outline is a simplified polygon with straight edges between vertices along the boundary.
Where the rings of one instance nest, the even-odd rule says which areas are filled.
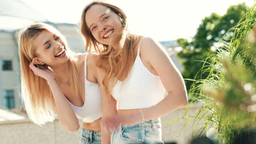
[[[205,79],[209,71],[202,71],[202,68],[209,67],[211,59],[207,59],[207,63],[203,63],[211,48],[216,49],[219,40],[224,37],[226,42],[234,34],[234,29],[229,31],[231,27],[237,25],[238,21],[245,15],[248,7],[243,4],[232,5],[227,13],[219,16],[212,13],[210,16],[202,20],[201,25],[197,28],[197,32],[193,39],[189,42],[187,39],[177,39],[177,43],[183,47],[183,50],[178,53],[181,58],[184,70],[182,75],[185,79]],[[187,89],[191,88],[193,81],[185,81]]]

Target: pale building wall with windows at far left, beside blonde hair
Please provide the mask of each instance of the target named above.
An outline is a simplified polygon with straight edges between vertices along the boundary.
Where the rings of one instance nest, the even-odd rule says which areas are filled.
[[[18,97],[19,61],[14,31],[0,31],[0,106],[20,105]]]

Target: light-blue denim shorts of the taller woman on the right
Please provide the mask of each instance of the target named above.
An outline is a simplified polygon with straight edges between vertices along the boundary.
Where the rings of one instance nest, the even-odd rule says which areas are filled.
[[[111,135],[112,144],[143,143],[163,144],[161,119],[156,118],[133,126],[122,126]]]

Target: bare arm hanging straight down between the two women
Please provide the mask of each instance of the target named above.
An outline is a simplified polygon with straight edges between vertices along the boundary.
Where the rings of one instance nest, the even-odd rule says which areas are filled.
[[[120,126],[116,120],[117,116],[117,101],[108,94],[106,87],[102,81],[106,73],[104,70],[97,68],[97,81],[101,89],[101,105],[102,105],[102,118],[101,118],[101,142],[103,144],[110,143],[110,135],[113,130],[117,130]],[[107,129],[108,128],[108,129]]]

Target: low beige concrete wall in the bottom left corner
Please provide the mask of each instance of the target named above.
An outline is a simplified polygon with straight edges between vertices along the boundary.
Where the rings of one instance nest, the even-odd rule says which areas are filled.
[[[30,121],[9,122],[0,124],[0,143],[79,143],[80,131],[71,133],[58,121],[40,127]]]

